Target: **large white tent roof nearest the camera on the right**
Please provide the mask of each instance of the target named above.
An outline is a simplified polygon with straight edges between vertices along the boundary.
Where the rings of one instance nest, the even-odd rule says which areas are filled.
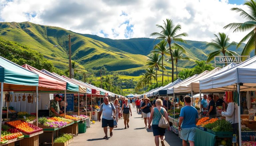
[[[255,90],[256,56],[222,73],[200,80],[200,89],[208,89],[207,91],[234,89],[236,83],[243,83],[240,91]]]

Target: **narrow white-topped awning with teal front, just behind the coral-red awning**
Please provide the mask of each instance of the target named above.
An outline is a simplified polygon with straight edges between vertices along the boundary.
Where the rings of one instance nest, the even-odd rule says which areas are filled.
[[[79,86],[77,84],[74,84],[74,83],[72,83],[72,82],[62,78],[61,76],[59,76],[57,74],[50,73],[50,72],[48,72],[45,69],[41,70],[41,72],[46,73],[48,75],[51,75],[51,76],[53,76],[55,78],[58,78],[59,80],[65,81],[66,82],[66,90],[74,91],[74,92],[79,92]]]

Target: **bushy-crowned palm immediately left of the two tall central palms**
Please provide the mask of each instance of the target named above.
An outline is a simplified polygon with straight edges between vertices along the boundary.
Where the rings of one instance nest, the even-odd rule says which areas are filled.
[[[146,64],[149,67],[155,67],[156,68],[156,84],[158,84],[158,82],[157,82],[157,70],[159,71],[159,68],[161,67],[160,59],[161,58],[159,58],[159,54],[153,53],[149,56],[148,62]]]

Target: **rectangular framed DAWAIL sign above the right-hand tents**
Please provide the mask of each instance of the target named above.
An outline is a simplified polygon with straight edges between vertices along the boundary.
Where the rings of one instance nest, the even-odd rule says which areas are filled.
[[[229,63],[242,63],[246,60],[250,59],[250,56],[215,56],[214,64],[216,68],[216,64],[229,64]]]

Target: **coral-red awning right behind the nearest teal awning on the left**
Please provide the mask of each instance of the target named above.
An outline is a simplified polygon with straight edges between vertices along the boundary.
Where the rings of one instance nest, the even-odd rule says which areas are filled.
[[[39,75],[38,91],[58,91],[66,90],[66,82],[61,81],[53,76],[43,73],[34,67],[27,64],[22,66],[23,68],[30,70]],[[18,90],[21,91],[21,90]]]

